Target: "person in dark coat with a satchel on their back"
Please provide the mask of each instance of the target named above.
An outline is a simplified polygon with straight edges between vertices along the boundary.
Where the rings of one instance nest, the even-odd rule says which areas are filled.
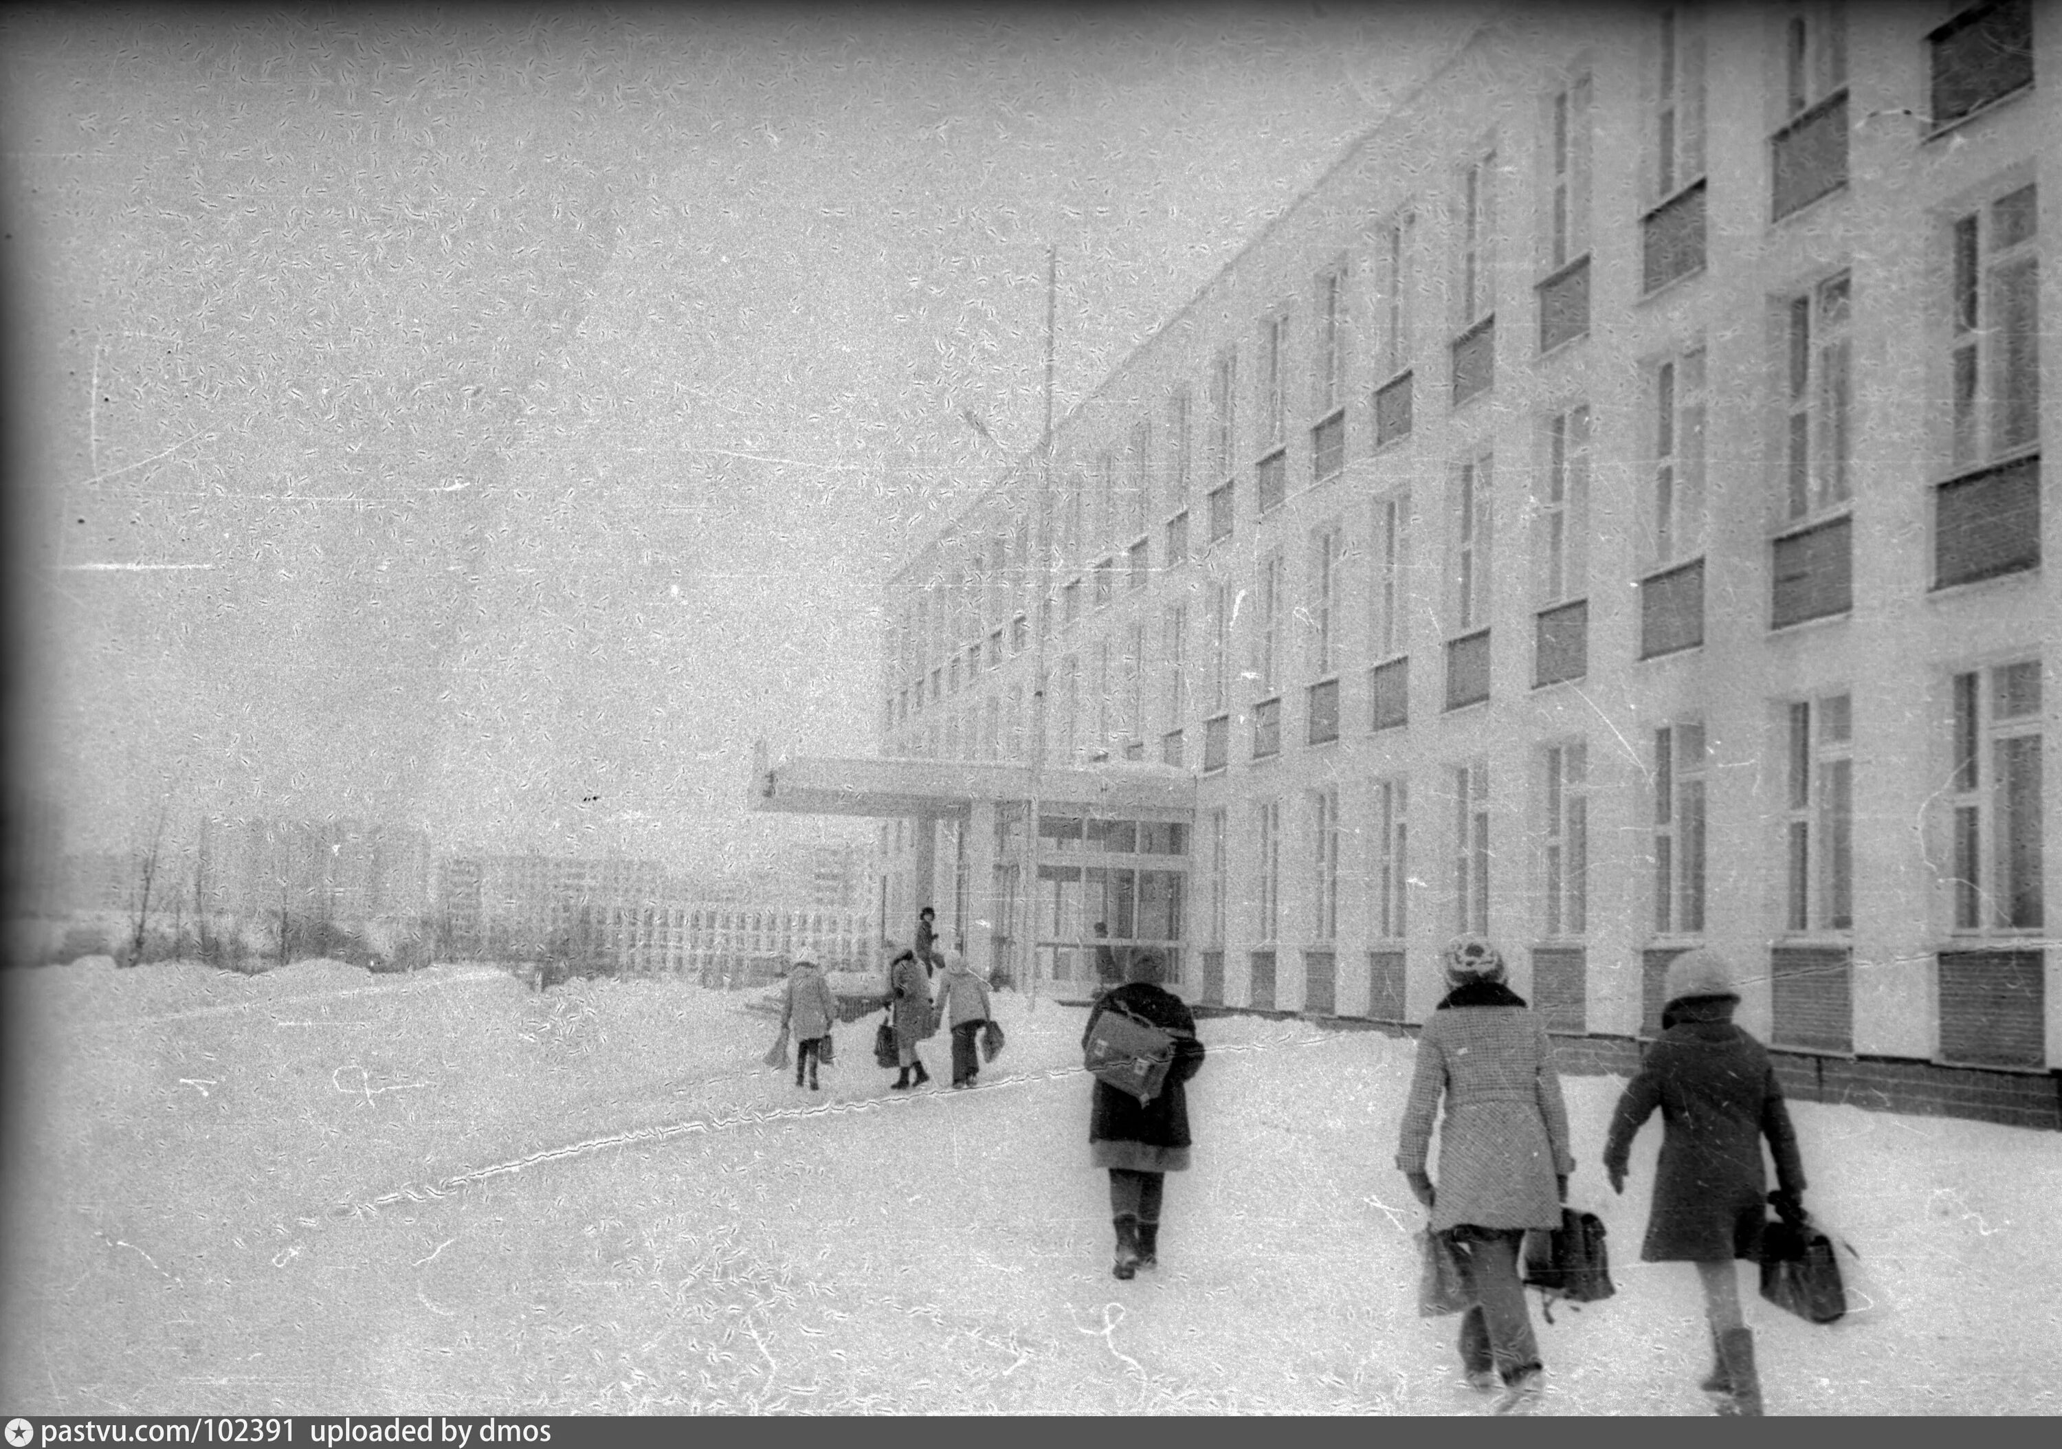
[[[1097,998],[1080,1033],[1087,1051],[1095,1020],[1107,1010],[1173,1033],[1173,1066],[1159,1097],[1140,1103],[1107,1082],[1095,1082],[1089,1099],[1089,1158],[1109,1171],[1109,1216],[1118,1231],[1118,1257],[1109,1270],[1134,1278],[1140,1268],[1159,1268],[1161,1193],[1167,1173],[1188,1171],[1188,1080],[1202,1070],[1196,1018],[1173,991],[1161,985],[1167,963],[1157,950],[1130,956],[1130,981]]]

